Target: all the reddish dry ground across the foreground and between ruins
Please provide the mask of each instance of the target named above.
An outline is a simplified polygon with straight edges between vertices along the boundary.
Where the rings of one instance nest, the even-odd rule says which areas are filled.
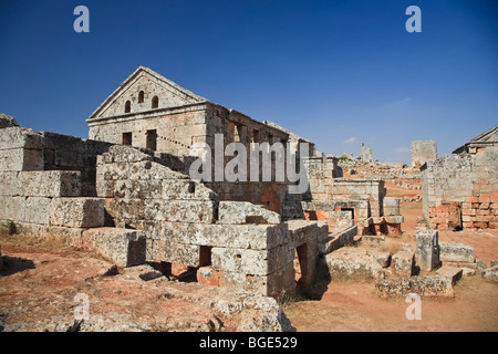
[[[403,190],[390,190],[400,196]],[[381,247],[415,244],[422,202],[402,204],[404,233]],[[489,264],[497,232],[439,232],[464,242]],[[1,331],[497,331],[498,282],[464,277],[455,298],[422,300],[422,320],[407,320],[404,299],[382,299],[373,282],[321,281],[315,299],[283,301],[170,281],[148,266],[115,269],[87,251],[22,236],[0,238]],[[156,278],[157,277],[157,278]],[[87,321],[74,320],[74,296],[89,296]],[[291,321],[289,323],[288,319]]]

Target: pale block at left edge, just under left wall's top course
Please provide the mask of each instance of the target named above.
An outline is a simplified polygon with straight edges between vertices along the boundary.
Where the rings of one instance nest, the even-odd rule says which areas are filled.
[[[0,131],[1,132],[1,131]],[[11,148],[0,150],[0,170],[42,170],[43,150]]]

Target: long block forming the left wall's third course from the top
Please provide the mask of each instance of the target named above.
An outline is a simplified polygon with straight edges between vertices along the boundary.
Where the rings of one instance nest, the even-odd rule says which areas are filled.
[[[20,171],[18,194],[28,197],[79,197],[81,173],[72,170]]]

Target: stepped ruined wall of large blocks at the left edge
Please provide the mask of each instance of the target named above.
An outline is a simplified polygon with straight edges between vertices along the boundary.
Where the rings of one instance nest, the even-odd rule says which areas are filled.
[[[104,226],[104,199],[84,195],[95,194],[92,162],[107,148],[15,125],[0,128],[0,220],[13,221],[24,236],[94,250],[120,267],[144,262],[144,236],[114,229],[94,240],[89,233]]]

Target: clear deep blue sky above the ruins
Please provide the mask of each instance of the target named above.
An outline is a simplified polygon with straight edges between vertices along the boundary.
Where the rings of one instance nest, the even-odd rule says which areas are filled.
[[[138,65],[336,155],[409,164],[411,140],[448,154],[498,123],[492,0],[0,0],[0,112],[34,131],[87,137]]]

